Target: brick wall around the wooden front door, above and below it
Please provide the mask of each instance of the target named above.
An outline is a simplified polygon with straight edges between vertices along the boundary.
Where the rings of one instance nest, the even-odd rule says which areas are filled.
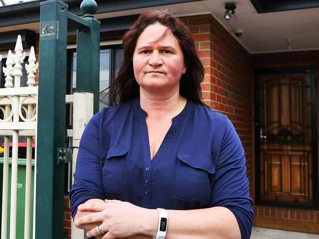
[[[253,69],[315,66],[319,79],[319,51],[282,52],[251,55]],[[319,106],[317,83],[317,108]],[[317,109],[318,112],[318,109]],[[318,198],[317,198],[318,200]],[[256,226],[319,233],[319,211],[255,206]]]

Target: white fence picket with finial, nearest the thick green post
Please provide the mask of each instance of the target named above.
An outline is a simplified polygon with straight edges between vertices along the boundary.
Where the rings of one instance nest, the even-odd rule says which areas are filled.
[[[35,63],[34,48],[31,47],[30,55],[26,65],[27,70],[27,85],[35,85],[35,72],[39,66]],[[31,119],[33,116],[32,104],[27,105],[27,119]],[[32,136],[27,137],[27,164],[26,164],[26,202],[25,202],[25,239],[30,238],[30,211],[31,211],[31,178],[32,178]]]

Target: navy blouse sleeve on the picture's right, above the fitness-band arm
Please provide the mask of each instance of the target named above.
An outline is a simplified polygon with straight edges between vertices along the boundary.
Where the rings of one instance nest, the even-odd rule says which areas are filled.
[[[225,118],[224,136],[212,179],[211,204],[228,208],[238,221],[241,238],[249,239],[254,213],[244,150],[233,124]]]

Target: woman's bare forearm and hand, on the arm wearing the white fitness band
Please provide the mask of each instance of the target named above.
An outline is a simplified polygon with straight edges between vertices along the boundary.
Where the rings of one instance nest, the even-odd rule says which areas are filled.
[[[159,215],[155,209],[145,209],[118,200],[106,200],[106,203],[82,204],[79,211],[83,213],[86,210],[89,210],[90,214],[77,217],[76,225],[88,228],[94,224],[102,224],[103,231],[107,232],[103,239],[151,239],[157,235]],[[167,210],[167,214],[166,239],[241,238],[235,215],[224,207]],[[88,236],[97,236],[94,227],[88,231]]]

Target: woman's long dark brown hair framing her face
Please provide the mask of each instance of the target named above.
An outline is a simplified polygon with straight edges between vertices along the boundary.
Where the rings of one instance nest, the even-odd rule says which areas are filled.
[[[200,88],[200,83],[204,79],[204,67],[197,55],[194,41],[186,24],[168,10],[148,10],[143,12],[131,29],[125,33],[123,37],[123,63],[117,77],[110,86],[111,104],[139,96],[139,85],[133,72],[133,53],[137,39],[142,31],[147,26],[156,23],[167,26],[167,29],[172,31],[182,48],[186,73],[182,75],[180,80],[180,95],[205,105],[202,101]],[[163,35],[162,37],[165,36]]]

